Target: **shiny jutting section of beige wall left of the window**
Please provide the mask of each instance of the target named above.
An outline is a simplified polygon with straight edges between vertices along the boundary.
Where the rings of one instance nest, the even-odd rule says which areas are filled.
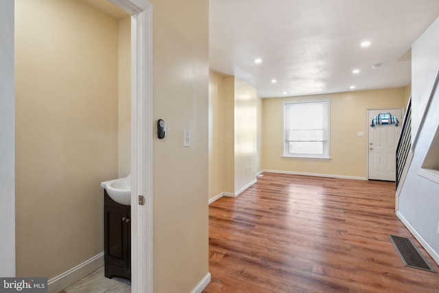
[[[256,90],[235,78],[235,193],[256,179]]]

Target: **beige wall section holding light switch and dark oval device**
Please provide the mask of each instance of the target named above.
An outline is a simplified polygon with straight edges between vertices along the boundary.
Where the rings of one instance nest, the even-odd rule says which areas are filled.
[[[209,272],[209,1],[150,2],[151,123],[167,125],[154,138],[154,292],[190,292]]]

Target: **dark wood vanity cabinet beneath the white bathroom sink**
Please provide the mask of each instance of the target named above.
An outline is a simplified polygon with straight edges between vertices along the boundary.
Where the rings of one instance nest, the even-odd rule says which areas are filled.
[[[131,279],[131,207],[115,202],[104,189],[105,277]]]

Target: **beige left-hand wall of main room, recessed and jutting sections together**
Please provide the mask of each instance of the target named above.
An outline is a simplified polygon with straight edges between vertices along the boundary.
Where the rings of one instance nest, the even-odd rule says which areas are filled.
[[[256,178],[261,114],[256,90],[233,76],[210,71],[209,199],[223,192],[236,194]]]

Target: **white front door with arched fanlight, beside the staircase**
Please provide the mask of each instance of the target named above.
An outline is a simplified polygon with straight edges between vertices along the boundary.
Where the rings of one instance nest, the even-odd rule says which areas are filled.
[[[372,119],[380,113],[390,113],[399,124],[370,126]],[[403,109],[368,110],[368,178],[394,181],[396,178],[396,145],[403,123]]]

